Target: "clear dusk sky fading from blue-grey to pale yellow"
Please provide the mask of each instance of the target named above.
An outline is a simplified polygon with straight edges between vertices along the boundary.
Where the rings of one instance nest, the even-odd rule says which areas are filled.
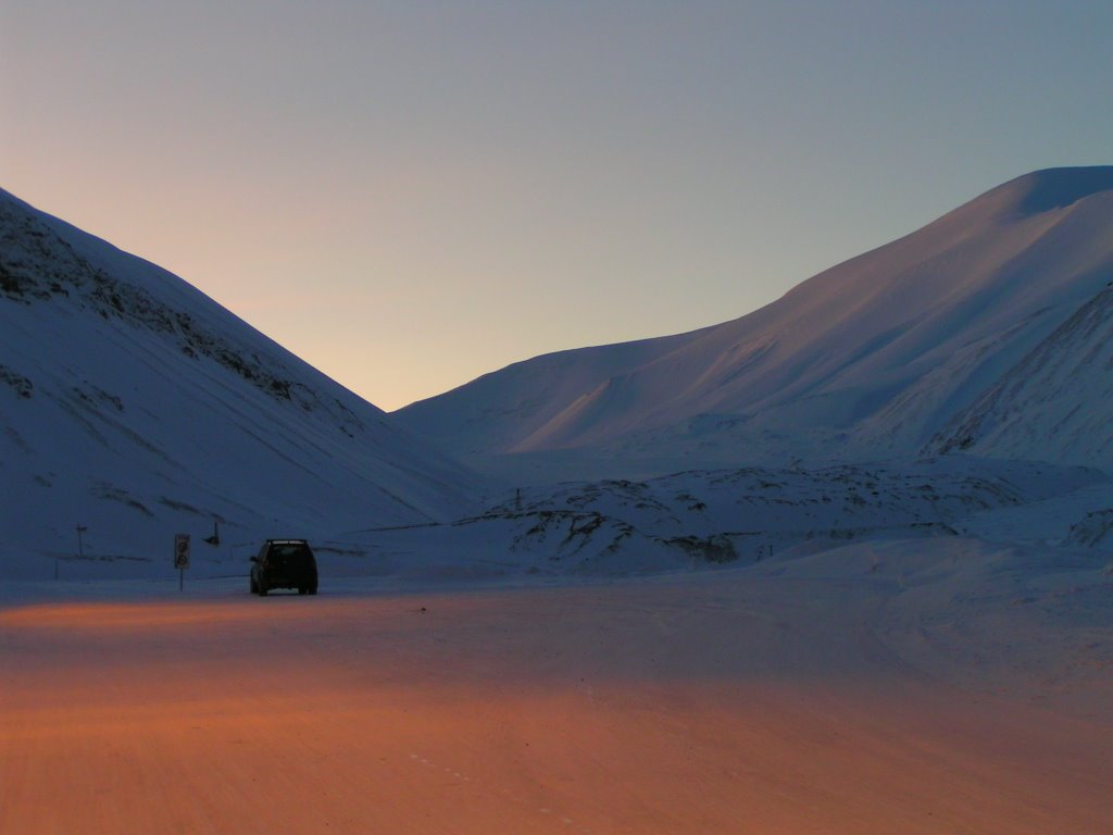
[[[393,410],[1113,163],[1113,3],[0,0],[0,187]]]

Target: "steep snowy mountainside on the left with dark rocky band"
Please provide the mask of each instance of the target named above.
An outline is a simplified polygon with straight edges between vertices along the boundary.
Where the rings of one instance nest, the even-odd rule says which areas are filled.
[[[6,559],[456,518],[485,482],[186,282],[0,191]],[[9,566],[11,568],[11,566]],[[3,567],[0,564],[0,573]],[[31,572],[33,573],[33,572]]]

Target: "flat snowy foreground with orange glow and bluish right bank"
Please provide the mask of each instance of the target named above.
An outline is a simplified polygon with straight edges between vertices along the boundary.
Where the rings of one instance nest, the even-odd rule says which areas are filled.
[[[516,584],[515,584],[516,583]],[[3,833],[1109,833],[1094,551],[524,584],[9,583]]]

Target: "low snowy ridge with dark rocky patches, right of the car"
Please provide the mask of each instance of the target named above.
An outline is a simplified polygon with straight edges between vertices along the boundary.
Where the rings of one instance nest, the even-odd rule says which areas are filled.
[[[696,470],[525,488],[477,517],[326,546],[339,554],[332,571],[426,580],[688,571],[923,539],[1090,551],[1106,547],[1104,531],[1084,542],[1077,531],[1104,519],[1093,508],[1109,507],[1111,484],[1093,469],[966,455]]]

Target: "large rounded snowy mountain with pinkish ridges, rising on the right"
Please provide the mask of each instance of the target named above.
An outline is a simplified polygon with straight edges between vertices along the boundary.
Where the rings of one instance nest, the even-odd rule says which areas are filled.
[[[516,363],[393,419],[568,474],[914,455],[1111,279],[1113,166],[1036,171],[741,318]]]

